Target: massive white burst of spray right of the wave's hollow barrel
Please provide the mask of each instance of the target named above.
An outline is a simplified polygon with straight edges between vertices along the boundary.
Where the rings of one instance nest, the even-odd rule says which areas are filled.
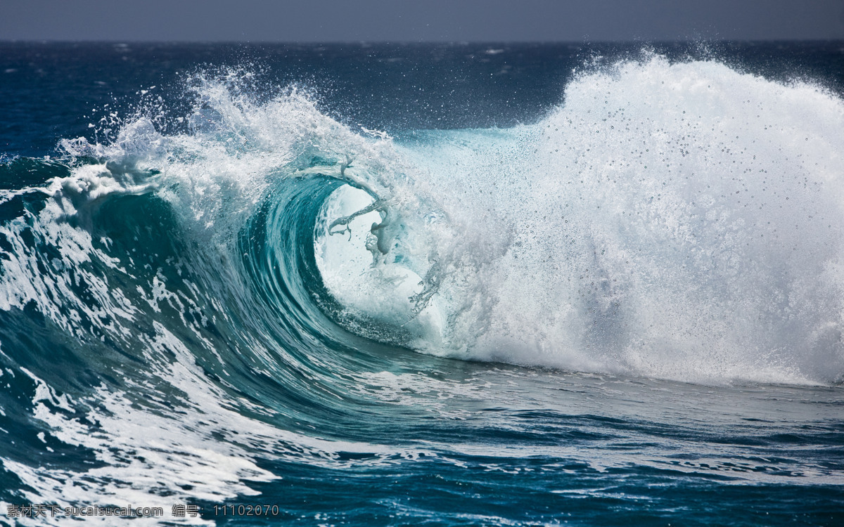
[[[659,56],[582,74],[537,125],[408,143],[452,224],[470,226],[451,256],[483,262],[441,299],[480,291],[492,306],[457,315],[446,348],[668,379],[840,380],[842,151],[835,95]],[[502,233],[506,255],[484,245]]]

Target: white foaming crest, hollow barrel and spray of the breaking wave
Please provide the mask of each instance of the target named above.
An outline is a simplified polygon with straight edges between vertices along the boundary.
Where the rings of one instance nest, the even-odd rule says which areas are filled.
[[[354,134],[295,90],[255,104],[226,83],[196,85],[189,133],[137,119],[110,145],[65,142],[105,161],[53,182],[62,213],[154,191],[189,239],[230,253],[244,294],[283,299],[303,325],[327,313],[419,351],[703,382],[841,381],[834,95],[652,56],[582,73],[534,125],[393,140]],[[344,183],[380,200],[380,220],[359,215],[366,199],[342,206]],[[330,233],[344,217],[345,244]],[[258,224],[269,220],[294,234]],[[239,276],[257,269],[236,256],[253,230],[279,276]]]

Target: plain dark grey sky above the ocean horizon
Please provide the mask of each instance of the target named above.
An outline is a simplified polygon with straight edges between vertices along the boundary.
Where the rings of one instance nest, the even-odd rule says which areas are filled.
[[[0,0],[0,40],[844,39],[844,0]]]

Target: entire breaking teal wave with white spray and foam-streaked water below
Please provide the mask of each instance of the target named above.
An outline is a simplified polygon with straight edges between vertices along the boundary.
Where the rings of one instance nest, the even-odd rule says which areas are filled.
[[[704,470],[666,453],[687,441],[755,484],[799,472],[826,510],[840,462],[750,458],[806,424],[792,403],[760,402],[756,383],[798,399],[795,385],[814,386],[826,415],[844,380],[838,95],[646,55],[583,68],[533,124],[391,137],[341,124],[298,89],[254,97],[243,77],[188,78],[184,115],[147,98],[100,122],[110,140],[0,165],[7,507],[208,510],[293,492],[308,503],[285,502],[295,519],[337,505],[307,481],[358,473],[332,487],[348,497],[396,470],[413,492],[427,485],[416,478],[533,474],[552,459],[587,475],[560,492],[610,499],[587,480]],[[630,413],[625,398],[729,426],[707,412],[733,406],[735,384],[759,403],[754,419],[792,417],[758,451],[645,427],[644,461],[584,439],[622,433],[625,418],[607,416]],[[559,390],[598,406],[620,394],[621,406],[538,395]],[[503,413],[484,425],[484,411]],[[492,487],[512,485],[497,477]],[[524,510],[547,481],[526,486],[508,506]],[[333,519],[384,507],[443,524],[541,519],[384,499]]]

